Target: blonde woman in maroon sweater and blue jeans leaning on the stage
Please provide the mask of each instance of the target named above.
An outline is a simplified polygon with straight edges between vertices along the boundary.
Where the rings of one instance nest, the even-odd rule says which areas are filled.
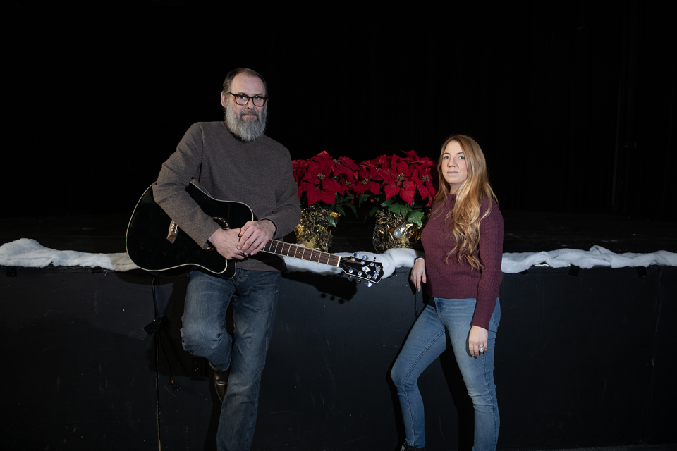
[[[421,240],[411,281],[431,302],[416,320],[391,371],[404,418],[402,451],[425,449],[423,401],[418,376],[451,346],[475,408],[473,451],[496,449],[499,409],[494,385],[494,343],[501,307],[503,216],[489,185],[487,163],[471,137],[442,144],[439,191]]]

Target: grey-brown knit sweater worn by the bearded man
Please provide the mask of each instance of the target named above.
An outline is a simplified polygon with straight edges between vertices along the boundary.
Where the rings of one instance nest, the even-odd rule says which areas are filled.
[[[265,135],[242,142],[223,122],[195,123],[162,164],[155,202],[204,248],[219,226],[185,192],[193,178],[214,199],[243,202],[258,219],[272,221],[274,238],[290,233],[301,217],[289,151]],[[236,264],[258,271],[284,267],[281,257],[265,252]]]

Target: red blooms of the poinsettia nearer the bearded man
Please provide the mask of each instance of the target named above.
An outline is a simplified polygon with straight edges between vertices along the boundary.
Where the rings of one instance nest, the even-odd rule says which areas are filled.
[[[345,207],[355,209],[355,194],[352,187],[357,181],[358,165],[346,156],[334,159],[322,151],[307,160],[293,160],[294,178],[298,186],[298,199],[302,206],[319,202],[325,208],[335,210],[343,216]],[[334,218],[329,218],[336,227]]]

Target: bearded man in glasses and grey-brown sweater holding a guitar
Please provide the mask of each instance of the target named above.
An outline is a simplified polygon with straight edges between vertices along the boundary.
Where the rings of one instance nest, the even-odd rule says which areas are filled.
[[[162,165],[155,201],[203,249],[211,243],[236,273],[226,280],[188,273],[181,339],[214,369],[221,400],[219,450],[249,450],[259,383],[272,334],[284,260],[260,250],[290,233],[300,219],[289,151],[266,135],[268,88],[251,69],[231,70],[224,81],[224,122],[195,123]],[[190,197],[193,180],[215,199],[243,202],[257,221],[222,229]],[[229,262],[230,263],[230,262]],[[233,336],[224,328],[233,304]]]

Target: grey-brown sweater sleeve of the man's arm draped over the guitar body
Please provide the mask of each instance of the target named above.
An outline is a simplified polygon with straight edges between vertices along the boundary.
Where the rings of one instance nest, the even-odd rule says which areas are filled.
[[[204,249],[219,225],[185,191],[191,179],[200,178],[201,161],[202,128],[196,123],[185,132],[176,152],[162,164],[153,196],[166,214]]]

